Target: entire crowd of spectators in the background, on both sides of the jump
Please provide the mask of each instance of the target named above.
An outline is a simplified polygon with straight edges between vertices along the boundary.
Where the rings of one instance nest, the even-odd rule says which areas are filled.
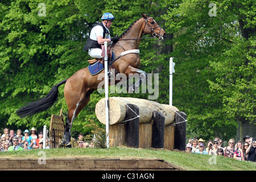
[[[23,132],[18,129],[16,133],[14,130],[4,129],[3,134],[0,133],[0,152],[4,151],[17,151],[17,150],[31,150],[43,148],[43,132],[36,134],[35,127],[30,130],[26,129]],[[214,138],[214,140],[208,140],[205,143],[203,139],[189,138],[185,150],[187,152],[206,155],[222,155],[227,158],[233,158],[236,160],[245,160],[256,162],[256,138],[246,135],[246,137],[235,143],[234,139],[230,139],[228,146],[222,147],[222,140]],[[84,135],[79,134],[74,147],[87,148],[94,147],[93,140],[86,142]],[[49,140],[46,139],[46,148],[49,148]]]

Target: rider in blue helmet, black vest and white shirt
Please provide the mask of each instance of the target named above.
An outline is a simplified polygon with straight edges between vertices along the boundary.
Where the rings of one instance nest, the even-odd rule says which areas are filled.
[[[111,13],[104,13],[101,17],[101,22],[96,24],[90,31],[89,38],[84,46],[84,51],[88,51],[89,56],[102,59],[101,45],[104,45],[104,42],[117,42],[118,38],[110,38],[109,28],[114,21],[114,16]]]

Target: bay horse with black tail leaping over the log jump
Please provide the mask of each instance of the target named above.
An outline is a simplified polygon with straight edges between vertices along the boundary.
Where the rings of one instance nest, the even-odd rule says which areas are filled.
[[[138,49],[139,43],[141,39],[143,39],[142,36],[146,34],[151,35],[153,38],[158,38],[159,40],[166,37],[166,32],[152,17],[142,14],[142,18],[131,24],[131,26],[119,36],[118,42],[111,44],[109,48],[113,50],[116,55],[121,55],[124,51]],[[129,77],[129,73],[137,73],[141,80],[139,80],[137,84],[135,82],[133,86],[138,87],[147,77],[146,72],[138,69],[140,65],[141,59],[139,58],[139,54],[129,53],[115,60],[110,68],[115,70],[114,74],[123,73],[127,77]],[[57,101],[59,86],[65,84],[64,97],[68,106],[68,115],[65,121],[65,131],[62,142],[66,144],[67,147],[71,147],[72,123],[80,111],[88,104],[90,94],[92,94],[94,90],[97,90],[97,86],[101,81],[102,80],[97,79],[96,75],[90,75],[87,67],[80,69],[71,77],[54,85],[47,96],[42,98],[42,100],[31,102],[18,109],[16,113],[20,118],[23,118],[49,109]],[[115,82],[115,84],[117,84],[117,82]]]

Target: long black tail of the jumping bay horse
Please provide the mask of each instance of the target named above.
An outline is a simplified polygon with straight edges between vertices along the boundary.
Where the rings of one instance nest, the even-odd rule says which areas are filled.
[[[44,110],[49,109],[55,102],[57,101],[58,94],[59,94],[59,86],[65,84],[68,79],[59,82],[52,87],[46,97],[42,98],[39,101],[28,103],[26,106],[21,107],[16,111],[20,118],[26,116],[32,116],[36,113],[40,113]]]

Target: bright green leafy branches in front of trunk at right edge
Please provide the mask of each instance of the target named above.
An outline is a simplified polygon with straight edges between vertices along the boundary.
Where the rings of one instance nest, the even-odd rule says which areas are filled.
[[[255,37],[248,41],[234,40],[229,50],[218,57],[218,61],[210,62],[217,71],[216,81],[209,81],[210,89],[223,96],[223,109],[230,118],[245,118],[254,122],[255,114],[255,63],[256,58],[247,51],[255,44]]]

